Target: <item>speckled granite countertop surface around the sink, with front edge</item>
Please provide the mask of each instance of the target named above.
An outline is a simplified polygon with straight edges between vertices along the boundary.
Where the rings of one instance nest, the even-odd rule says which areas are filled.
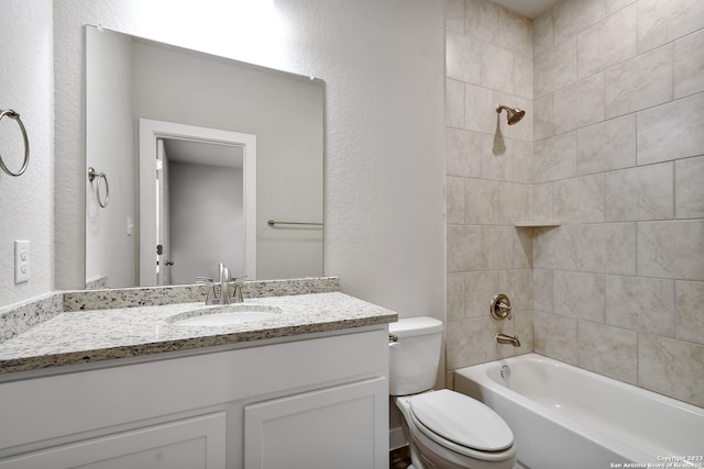
[[[0,343],[0,375],[397,321],[395,312],[339,291],[253,298],[238,304],[280,312],[265,321],[227,326],[173,323],[222,308],[202,302],[61,312]]]

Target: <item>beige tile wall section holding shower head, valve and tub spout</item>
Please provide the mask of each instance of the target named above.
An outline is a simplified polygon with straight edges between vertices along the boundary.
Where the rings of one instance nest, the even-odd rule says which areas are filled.
[[[453,0],[446,24],[451,371],[532,350],[532,236],[513,223],[531,206],[547,216],[551,194],[532,183],[531,22],[484,0]],[[528,118],[509,127],[506,114],[496,114],[498,103],[524,109]],[[560,145],[551,144],[556,156]],[[510,295],[510,322],[490,316],[488,302],[498,291]],[[521,347],[496,344],[498,332],[518,334]]]

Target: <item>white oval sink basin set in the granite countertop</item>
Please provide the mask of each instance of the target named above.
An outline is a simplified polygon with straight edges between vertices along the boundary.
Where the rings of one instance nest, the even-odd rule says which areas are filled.
[[[276,319],[282,309],[264,304],[229,304],[176,314],[167,320],[177,326],[230,326]]]

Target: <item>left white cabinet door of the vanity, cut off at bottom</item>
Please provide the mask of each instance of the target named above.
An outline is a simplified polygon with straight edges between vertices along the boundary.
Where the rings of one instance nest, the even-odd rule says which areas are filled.
[[[0,460],[0,468],[223,469],[226,414],[218,412]]]

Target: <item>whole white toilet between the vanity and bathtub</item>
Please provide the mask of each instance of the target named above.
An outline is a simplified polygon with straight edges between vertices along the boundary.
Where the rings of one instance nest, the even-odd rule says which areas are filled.
[[[410,468],[513,468],[514,434],[496,412],[459,392],[431,390],[442,323],[426,316],[404,319],[389,324],[389,393],[404,416]]]

